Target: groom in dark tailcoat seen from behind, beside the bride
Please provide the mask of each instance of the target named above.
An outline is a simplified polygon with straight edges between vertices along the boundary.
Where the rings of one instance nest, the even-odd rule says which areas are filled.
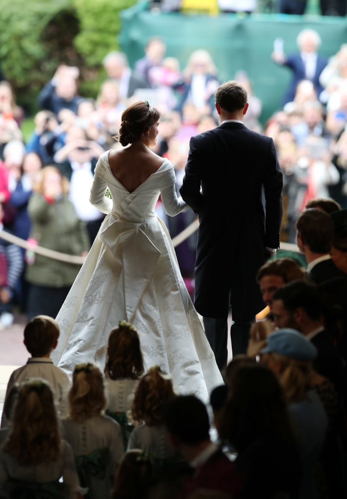
[[[190,140],[180,189],[199,216],[195,261],[196,310],[220,369],[245,353],[255,315],[265,304],[256,274],[280,244],[283,176],[272,138],[243,124],[247,92],[237,81],[215,95],[220,126]]]

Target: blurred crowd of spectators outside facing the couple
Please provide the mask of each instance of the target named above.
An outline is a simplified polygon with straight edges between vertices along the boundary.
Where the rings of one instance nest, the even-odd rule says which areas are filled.
[[[282,108],[266,123],[261,122],[262,101],[245,70],[240,68],[233,76],[248,91],[250,106],[245,124],[275,141],[285,178],[282,241],[290,243],[295,242],[295,223],[310,199],[333,198],[342,208],[347,208],[346,47],[343,44],[329,60],[324,58],[320,55],[320,36],[313,29],[302,30],[297,43],[298,51],[288,55],[281,39],[274,44],[271,54],[274,64],[283,66],[283,71],[291,71],[293,78],[288,88],[283,89]],[[134,63],[133,68],[127,55],[120,51],[107,53],[102,64],[105,79],[97,95],[92,97],[79,94],[77,67],[63,64],[57,67],[39,92],[39,111],[33,117],[34,129],[25,140],[21,132],[24,110],[16,104],[11,85],[6,80],[0,82],[2,222],[5,230],[29,240],[32,245],[42,244],[46,239],[43,233],[50,230],[48,221],[44,223],[44,230],[37,229],[36,222],[33,224],[37,217],[35,199],[41,196],[47,206],[46,214],[71,205],[69,209],[82,222],[83,231],[88,236],[88,246],[83,236],[84,243],[78,251],[78,245],[74,247],[74,254],[84,255],[88,251],[104,217],[88,200],[94,168],[103,151],[120,147],[115,136],[122,111],[130,103],[149,100],[160,110],[160,132],[155,152],[168,157],[174,164],[177,189],[182,181],[190,137],[218,125],[214,93],[221,81],[218,68],[207,50],[192,51],[185,67],[181,67],[178,58],[166,55],[163,39],[155,36],[148,39],[143,57]],[[68,187],[57,189],[56,193],[52,190],[47,195],[42,189],[41,178],[42,168],[46,166],[57,168]],[[32,193],[35,193],[34,197]],[[157,211],[172,236],[195,218],[191,210],[174,220],[167,218],[160,200]],[[63,251],[60,240],[52,238],[45,246]],[[195,242],[192,235],[176,248],[183,277],[192,294]],[[27,298],[32,286],[37,284],[30,278],[36,258],[30,250],[21,252],[20,277],[14,287],[11,282],[10,294],[13,303],[17,303],[23,313],[32,316],[36,311],[28,310]],[[40,258],[49,260],[45,256],[38,260]],[[54,267],[53,260],[48,266]],[[44,290],[48,294],[51,288],[55,288],[56,293],[56,287],[62,286],[56,284],[60,280],[53,276],[54,273],[49,279],[47,277],[46,282],[39,283],[46,286]],[[68,284],[64,283],[65,288]],[[8,306],[6,312],[7,309]],[[48,309],[42,312],[50,314]]]

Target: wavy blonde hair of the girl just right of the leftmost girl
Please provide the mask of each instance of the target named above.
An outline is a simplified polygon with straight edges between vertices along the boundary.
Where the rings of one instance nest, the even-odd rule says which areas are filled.
[[[70,418],[85,421],[106,407],[104,378],[100,369],[90,363],[77,364],[69,391]]]

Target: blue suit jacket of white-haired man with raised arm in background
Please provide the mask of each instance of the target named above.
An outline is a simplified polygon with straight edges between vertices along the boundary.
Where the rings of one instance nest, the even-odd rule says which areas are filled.
[[[318,97],[324,90],[324,88],[320,84],[319,77],[327,64],[328,59],[326,57],[323,57],[322,55],[317,56],[316,72],[312,82],[316,87]],[[292,79],[287,88],[283,102],[283,104],[286,104],[287,102],[292,102],[294,100],[297,85],[299,81],[305,80],[306,76],[304,61],[300,53],[289,55],[283,65],[289,67],[292,70]]]

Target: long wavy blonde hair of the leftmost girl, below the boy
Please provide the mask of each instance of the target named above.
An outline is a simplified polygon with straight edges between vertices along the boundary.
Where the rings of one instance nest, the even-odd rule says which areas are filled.
[[[56,461],[60,455],[58,418],[50,385],[41,378],[22,383],[3,452],[20,465]]]

